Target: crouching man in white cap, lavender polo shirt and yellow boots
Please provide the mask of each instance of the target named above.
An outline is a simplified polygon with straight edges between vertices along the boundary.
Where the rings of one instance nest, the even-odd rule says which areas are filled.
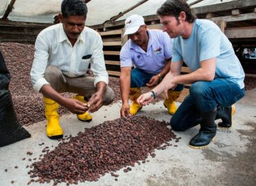
[[[120,90],[122,96],[121,116],[135,115],[142,108],[136,101],[141,94],[140,87],[154,87],[170,71],[172,41],[162,30],[147,30],[144,19],[131,15],[125,20],[125,35],[129,40],[120,52]],[[135,66],[133,70],[131,68]],[[169,114],[176,112],[174,101],[181,94],[183,85],[168,92],[164,100]],[[129,106],[128,99],[132,101]]]

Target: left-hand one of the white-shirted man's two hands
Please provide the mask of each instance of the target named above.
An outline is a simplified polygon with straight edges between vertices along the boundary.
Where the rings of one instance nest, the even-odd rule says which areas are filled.
[[[74,114],[84,114],[84,112],[89,110],[89,105],[82,103],[77,99],[66,99],[63,106]]]

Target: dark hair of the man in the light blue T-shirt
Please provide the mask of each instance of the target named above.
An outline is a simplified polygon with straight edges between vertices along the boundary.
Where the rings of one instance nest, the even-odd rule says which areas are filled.
[[[167,0],[163,5],[158,8],[156,14],[159,16],[174,16],[179,21],[179,15],[181,12],[185,12],[188,23],[193,23],[196,20],[196,16],[192,14],[190,6],[184,0]]]

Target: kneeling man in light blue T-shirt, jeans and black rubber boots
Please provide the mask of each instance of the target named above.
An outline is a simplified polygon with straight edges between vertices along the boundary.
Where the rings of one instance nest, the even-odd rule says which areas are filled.
[[[190,147],[205,147],[216,135],[215,119],[222,119],[220,127],[231,127],[231,105],[245,95],[244,70],[225,34],[212,21],[196,19],[185,1],[165,1],[157,14],[163,31],[174,42],[170,73],[152,92],[158,95],[179,83],[192,83],[170,125],[173,130],[185,131],[200,123]],[[192,73],[181,75],[183,62]],[[140,96],[138,102],[151,101],[152,92]]]

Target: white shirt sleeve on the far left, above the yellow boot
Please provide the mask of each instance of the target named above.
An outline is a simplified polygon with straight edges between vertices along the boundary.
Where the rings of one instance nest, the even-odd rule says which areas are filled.
[[[39,92],[43,85],[49,84],[44,79],[44,72],[48,65],[48,45],[46,44],[46,37],[39,34],[35,41],[35,55],[33,65],[30,71],[30,80],[33,88]]]

